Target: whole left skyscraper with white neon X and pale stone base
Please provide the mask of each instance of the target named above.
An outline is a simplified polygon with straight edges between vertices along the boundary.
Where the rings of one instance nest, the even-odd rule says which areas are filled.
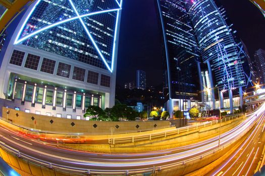
[[[4,104],[74,119],[89,105],[112,107],[121,7],[122,0],[35,1],[3,58],[0,98],[13,101]]]

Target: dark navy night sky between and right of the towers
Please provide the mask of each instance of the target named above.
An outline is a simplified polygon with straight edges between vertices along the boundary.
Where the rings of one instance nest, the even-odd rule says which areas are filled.
[[[225,8],[237,35],[253,58],[255,50],[265,49],[265,18],[248,0],[218,0]],[[146,71],[147,85],[163,81],[161,31],[154,0],[125,0],[120,26],[117,84],[136,82],[136,70]]]

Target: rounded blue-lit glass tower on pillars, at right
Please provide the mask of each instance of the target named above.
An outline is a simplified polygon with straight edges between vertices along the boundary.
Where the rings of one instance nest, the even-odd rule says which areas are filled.
[[[241,54],[243,48],[234,39],[234,33],[225,19],[225,11],[213,0],[188,0],[187,12],[196,33],[202,60],[208,66],[210,87],[216,109],[214,88],[220,91],[221,108],[223,92],[228,91],[230,112],[233,112],[232,90],[239,89],[242,107],[242,87],[246,86]]]

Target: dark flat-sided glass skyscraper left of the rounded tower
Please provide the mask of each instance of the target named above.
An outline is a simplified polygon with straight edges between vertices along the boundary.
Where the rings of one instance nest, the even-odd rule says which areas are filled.
[[[198,101],[200,61],[196,37],[184,1],[157,0],[163,30],[164,63],[169,87],[168,110],[187,110]]]

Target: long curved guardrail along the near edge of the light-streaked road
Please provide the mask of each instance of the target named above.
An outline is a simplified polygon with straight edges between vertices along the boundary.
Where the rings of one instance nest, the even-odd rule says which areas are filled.
[[[238,118],[238,117],[232,117],[232,118],[228,117],[228,118],[230,120],[232,120],[232,119]],[[222,122],[222,119],[221,119],[221,122]],[[255,123],[252,123],[252,125],[249,127],[249,129],[252,128],[254,125],[255,125]],[[170,163],[170,164],[162,165],[159,167],[153,166],[153,167],[140,168],[140,169],[130,169],[130,170],[125,170],[125,169],[123,169],[123,170],[122,169],[119,169],[119,170],[100,170],[100,169],[84,169],[84,168],[70,167],[70,166],[60,165],[60,164],[56,164],[56,163],[50,163],[50,162],[43,161],[43,160],[40,160],[40,159],[32,157],[32,156],[29,156],[27,154],[21,153],[19,150],[14,149],[14,148],[8,146],[7,144],[5,144],[4,142],[1,142],[1,141],[0,141],[0,147],[2,147],[4,150],[9,152],[10,154],[16,155],[17,157],[19,157],[21,159],[33,162],[34,164],[37,164],[40,166],[45,166],[45,167],[54,169],[55,171],[60,171],[60,172],[65,172],[65,173],[70,173],[70,174],[73,173],[75,175],[77,175],[77,174],[78,175],[84,175],[84,174],[104,174],[104,175],[122,174],[122,175],[128,175],[128,174],[140,174],[140,173],[155,173],[155,172],[161,171],[162,169],[163,170],[169,170],[169,169],[173,169],[173,168],[174,169],[181,168],[181,167],[184,167],[188,164],[196,163],[196,162],[200,161],[201,159],[210,158],[210,157],[214,156],[216,154],[216,152],[220,152],[220,151],[226,149],[227,147],[229,147],[235,141],[237,141],[242,136],[244,136],[245,133],[241,133],[241,135],[238,135],[234,140],[220,146],[217,149],[210,150],[210,151],[208,151],[202,155],[199,155],[199,156],[196,156],[193,158],[189,158],[189,159],[186,159],[184,161]]]

